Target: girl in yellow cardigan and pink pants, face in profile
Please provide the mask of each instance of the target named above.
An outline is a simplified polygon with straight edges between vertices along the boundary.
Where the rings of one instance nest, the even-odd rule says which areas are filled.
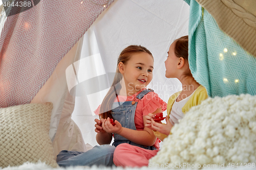
[[[175,40],[169,47],[165,63],[165,77],[177,78],[182,83],[182,91],[170,96],[167,103],[166,124],[154,121],[154,113],[145,116],[145,127],[154,131],[163,140],[170,134],[174,124],[193,106],[199,105],[208,95],[206,89],[193,78],[188,66],[188,36]],[[126,143],[120,144],[114,152],[117,166],[148,166],[148,160],[159,150],[149,151]],[[139,161],[138,161],[139,160]]]

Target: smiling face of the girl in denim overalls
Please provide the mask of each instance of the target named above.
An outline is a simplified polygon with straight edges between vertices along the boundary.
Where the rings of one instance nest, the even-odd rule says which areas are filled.
[[[151,82],[153,65],[153,57],[144,52],[133,54],[126,64],[119,63],[127,95],[133,95]]]

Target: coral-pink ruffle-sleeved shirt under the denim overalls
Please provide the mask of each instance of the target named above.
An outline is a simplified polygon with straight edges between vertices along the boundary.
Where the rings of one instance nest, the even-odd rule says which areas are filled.
[[[145,89],[145,88],[144,88]],[[142,89],[142,90],[144,90]],[[126,101],[133,101],[136,96],[142,91],[131,95],[131,96],[122,96],[118,95],[119,102],[126,102]],[[117,102],[117,98],[114,102]],[[155,112],[158,108],[162,107],[162,111],[165,111],[167,108],[167,104],[159,98],[158,94],[155,92],[148,92],[144,97],[138,101],[135,116],[134,116],[134,123],[137,130],[141,131],[144,129],[143,124],[143,116],[147,115],[148,113]],[[94,111],[95,114],[99,115],[100,105]],[[159,149],[159,139],[156,140],[154,147]]]

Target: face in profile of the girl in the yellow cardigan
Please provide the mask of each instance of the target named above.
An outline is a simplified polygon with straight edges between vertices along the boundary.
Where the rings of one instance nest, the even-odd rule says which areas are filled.
[[[168,57],[164,62],[165,68],[166,68],[166,71],[165,71],[166,78],[177,78],[177,71],[178,71],[177,65],[179,63],[179,57],[175,55],[175,52],[174,52],[175,45],[176,45],[176,41],[174,41],[170,45],[169,51],[167,52]]]

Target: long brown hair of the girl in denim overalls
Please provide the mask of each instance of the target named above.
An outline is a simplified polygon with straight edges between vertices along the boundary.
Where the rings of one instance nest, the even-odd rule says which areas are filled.
[[[152,53],[149,50],[147,50],[147,48],[141,45],[130,45],[124,48],[124,50],[120,53],[117,59],[116,74],[115,74],[113,83],[111,85],[111,88],[108,91],[108,93],[106,93],[105,98],[101,103],[100,114],[99,114],[100,118],[108,118],[108,117],[113,118],[111,106],[114,103],[114,100],[117,94],[122,88],[120,84],[120,81],[122,80],[122,75],[119,71],[118,64],[122,62],[125,65],[127,61],[130,60],[131,56],[136,53],[147,53],[153,57]]]

